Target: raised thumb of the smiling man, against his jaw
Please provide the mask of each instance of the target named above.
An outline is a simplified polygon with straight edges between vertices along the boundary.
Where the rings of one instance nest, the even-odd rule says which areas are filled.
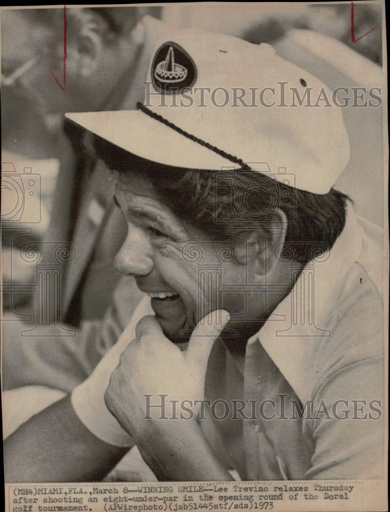
[[[190,367],[195,368],[202,378],[206,375],[207,361],[212,346],[229,319],[230,315],[224,309],[211,311],[202,318],[192,332],[185,358]]]

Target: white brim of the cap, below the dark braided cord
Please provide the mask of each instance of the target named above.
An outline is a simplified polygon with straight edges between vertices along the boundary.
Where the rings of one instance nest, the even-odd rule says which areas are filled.
[[[77,112],[65,115],[85,130],[146,160],[204,170],[239,166],[141,111]]]

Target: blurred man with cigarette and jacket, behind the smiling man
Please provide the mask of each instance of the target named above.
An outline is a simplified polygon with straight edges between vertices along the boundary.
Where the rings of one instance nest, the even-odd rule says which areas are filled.
[[[34,316],[32,322],[22,323],[15,322],[9,313],[11,321],[2,323],[3,388],[12,390],[4,394],[7,436],[28,417],[58,399],[61,392],[72,391],[93,371],[127,325],[141,296],[133,278],[122,278],[118,284],[119,274],[113,268],[114,256],[126,233],[124,218],[113,205],[114,182],[105,166],[82,149],[79,134],[74,130],[69,133],[63,114],[135,109],[144,95],[142,82],[155,41],[167,29],[158,19],[158,7],[67,8],[67,72],[62,90],[52,74],[62,84],[64,10],[10,10],[5,14],[3,83],[23,108],[30,105],[24,111],[15,110],[17,100],[5,103],[2,119],[7,119],[9,127],[4,147],[13,154],[12,159],[6,159],[12,161],[14,154],[19,153],[39,159],[54,154],[60,160],[55,192],[50,192],[53,207],[48,232],[47,223],[41,222],[32,239],[49,242],[48,253],[42,254],[48,261],[52,261],[50,242],[71,242],[75,246],[76,257],[61,268],[63,286],[57,313],[61,314],[64,326],[77,327],[73,329],[74,336],[72,332],[69,336],[55,336],[48,325],[46,335],[34,337],[26,335],[30,324],[34,324]],[[25,120],[32,126],[35,119],[39,125],[35,123],[34,129],[26,130]],[[24,226],[17,223],[17,227]],[[10,246],[10,236],[4,241]],[[23,242],[26,237],[20,240],[16,252]],[[4,255],[10,264],[12,261],[12,269],[23,284],[33,282],[35,264],[27,266],[23,261],[27,269],[20,265],[15,268],[20,257],[11,258],[9,248],[3,246],[3,263]],[[17,314],[20,310],[25,312],[24,309],[30,313],[34,305],[20,308],[17,303],[17,299],[25,301],[28,294],[13,295],[8,306],[16,309]],[[111,307],[104,315],[109,304]],[[23,385],[27,387],[21,388],[22,396],[15,388]],[[131,467],[134,472],[134,463]]]

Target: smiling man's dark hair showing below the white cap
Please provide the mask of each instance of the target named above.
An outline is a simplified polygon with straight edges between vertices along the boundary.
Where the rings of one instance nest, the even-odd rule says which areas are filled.
[[[334,188],[319,195],[253,170],[171,167],[132,155],[100,137],[95,137],[94,148],[109,168],[147,176],[175,215],[215,239],[227,238],[227,225],[267,228],[280,208],[288,221],[284,249],[306,263],[332,248],[345,225],[350,198]]]

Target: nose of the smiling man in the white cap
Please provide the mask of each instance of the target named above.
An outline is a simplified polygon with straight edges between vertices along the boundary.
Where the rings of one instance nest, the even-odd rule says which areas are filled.
[[[126,240],[115,257],[115,270],[121,275],[147,275],[154,268],[153,249],[141,229],[129,228]]]

